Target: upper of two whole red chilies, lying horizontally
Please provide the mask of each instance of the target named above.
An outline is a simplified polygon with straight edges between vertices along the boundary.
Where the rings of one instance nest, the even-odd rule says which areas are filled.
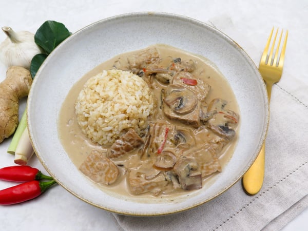
[[[0,169],[0,180],[23,182],[43,179],[53,180],[52,177],[45,176],[37,168],[28,165],[16,165]]]

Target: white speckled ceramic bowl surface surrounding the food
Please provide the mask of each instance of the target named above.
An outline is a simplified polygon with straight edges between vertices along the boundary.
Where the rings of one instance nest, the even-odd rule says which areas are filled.
[[[172,201],[112,195],[95,187],[69,159],[58,137],[59,111],[72,85],[86,72],[120,53],[159,43],[200,54],[218,66],[240,107],[239,141],[232,159],[208,188]],[[77,31],[60,44],[36,74],[27,113],[36,155],[60,185],[94,206],[132,216],[177,213],[220,195],[252,165],[268,123],[267,95],[261,75],[238,44],[217,29],[191,18],[146,12],[107,18]]]

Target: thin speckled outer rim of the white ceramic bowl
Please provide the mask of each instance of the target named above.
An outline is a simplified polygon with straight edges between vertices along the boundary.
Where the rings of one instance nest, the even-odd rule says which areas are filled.
[[[57,172],[55,169],[51,169],[49,167],[49,164],[46,162],[45,160],[45,153],[40,152],[40,144],[37,143],[37,136],[35,134],[35,122],[34,121],[34,111],[33,108],[35,108],[36,103],[35,103],[35,91],[36,90],[36,85],[37,82],[40,78],[42,78],[40,75],[42,74],[43,70],[45,68],[47,68],[48,66],[48,62],[53,59],[53,56],[59,55],[61,54],[61,50],[62,48],[68,43],[68,41],[72,40],[74,37],[81,35],[82,33],[84,33],[85,31],[87,31],[89,28],[93,28],[96,27],[97,25],[100,24],[104,24],[104,23],[108,23],[110,21],[117,21],[119,19],[127,19],[130,20],[131,18],[134,17],[140,17],[140,18],[144,18],[144,17],[163,17],[164,20],[168,21],[171,20],[173,23],[177,22],[177,23],[188,23],[191,25],[197,25],[198,27],[204,28],[208,31],[210,31],[211,33],[215,33],[217,36],[219,36],[222,40],[226,41],[230,46],[232,46],[233,48],[235,48],[240,55],[242,55],[242,58],[247,62],[247,65],[252,68],[253,72],[254,72],[254,78],[257,79],[258,83],[259,83],[259,87],[260,87],[260,97],[263,100],[264,103],[264,114],[263,114],[263,120],[264,123],[262,125],[261,128],[261,132],[260,132],[260,139],[258,140],[258,144],[255,147],[255,151],[254,153],[251,155],[251,158],[249,159],[248,163],[246,164],[246,166],[241,170],[240,174],[238,174],[233,182],[228,183],[227,185],[225,185],[225,187],[218,191],[216,194],[211,195],[211,197],[208,197],[205,200],[200,200],[197,203],[191,204],[191,205],[186,205],[180,208],[176,208],[176,209],[171,209],[168,211],[165,210],[161,210],[161,211],[148,211],[148,212],[144,212],[144,211],[135,211],[134,209],[119,209],[119,208],[110,208],[110,207],[105,207],[104,205],[99,205],[98,203],[92,202],[91,200],[88,200],[87,198],[81,196],[78,192],[76,192],[75,190],[72,190],[70,187],[67,187],[67,185],[65,184],[65,182],[63,182],[58,176]],[[149,44],[150,45],[150,44]],[[252,61],[252,59],[246,54],[246,52],[235,42],[233,41],[230,37],[228,37],[226,34],[222,33],[221,31],[217,30],[216,28],[214,28],[213,26],[210,26],[208,24],[205,24],[203,22],[197,21],[193,18],[189,18],[186,16],[182,16],[182,15],[177,15],[177,14],[170,14],[170,13],[162,13],[162,12],[136,12],[136,13],[128,13],[128,14],[122,14],[122,15],[117,15],[117,16],[113,16],[113,17],[108,17],[104,20],[95,22],[75,33],[73,33],[69,38],[67,38],[63,43],[61,43],[53,52],[51,52],[51,54],[47,57],[46,61],[43,63],[43,65],[41,66],[41,68],[38,70],[37,74],[36,74],[36,78],[34,78],[33,81],[33,85],[32,88],[30,90],[29,93],[29,97],[28,97],[28,103],[27,103],[27,122],[28,122],[28,129],[29,129],[29,136],[33,145],[33,148],[35,150],[36,156],[38,157],[38,159],[41,161],[42,165],[45,167],[45,169],[49,172],[49,174],[54,177],[54,179],[56,180],[57,183],[59,183],[60,185],[62,185],[67,191],[69,191],[71,194],[73,194],[74,196],[78,197],[79,199],[102,209],[105,209],[107,211],[110,211],[112,213],[117,213],[117,214],[122,214],[122,215],[129,215],[129,216],[161,216],[161,215],[168,215],[168,214],[174,214],[174,213],[179,213],[181,211],[185,211],[194,207],[197,207],[201,204],[204,204],[210,200],[213,200],[214,198],[216,198],[217,196],[221,195],[223,192],[225,192],[228,188],[232,187],[235,183],[237,183],[242,176],[245,174],[245,172],[248,170],[248,168],[253,164],[254,160],[257,158],[257,155],[261,149],[262,143],[265,139],[266,136],[266,130],[267,130],[267,126],[268,126],[268,119],[269,119],[269,112],[268,112],[268,102],[267,102],[267,94],[266,94],[266,90],[265,90],[265,86],[264,86],[264,82],[261,78],[261,75],[256,67],[256,65],[254,64],[254,62]]]

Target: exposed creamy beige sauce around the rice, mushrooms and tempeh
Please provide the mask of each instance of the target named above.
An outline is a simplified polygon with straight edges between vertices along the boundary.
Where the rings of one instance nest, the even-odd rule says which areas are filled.
[[[206,102],[209,103],[211,100],[215,98],[222,98],[227,100],[228,102],[228,109],[233,110],[237,113],[239,113],[239,108],[236,102],[235,95],[230,88],[229,84],[225,80],[224,76],[221,74],[221,72],[218,70],[218,68],[211,63],[209,60],[205,59],[204,57],[199,57],[197,55],[193,55],[191,53],[185,52],[183,50],[170,47],[167,45],[155,45],[157,50],[160,53],[160,56],[162,58],[165,57],[181,57],[182,60],[195,60],[197,62],[197,69],[194,71],[195,75],[198,75],[198,78],[203,79],[206,83],[208,83],[211,86],[211,90],[206,98]],[[76,115],[74,111],[74,105],[75,101],[78,97],[79,92],[83,88],[85,82],[91,78],[93,75],[98,74],[102,72],[103,70],[109,70],[114,68],[114,66],[118,67],[124,67],[127,66],[127,57],[138,53],[139,51],[132,51],[124,54],[120,54],[118,56],[113,57],[111,60],[108,60],[99,66],[95,67],[91,71],[89,71],[87,74],[85,74],[79,82],[73,85],[71,90],[69,91],[65,101],[63,102],[60,114],[59,114],[59,136],[60,140],[62,142],[62,145],[64,149],[66,150],[69,158],[72,160],[73,164],[79,168],[80,165],[85,161],[89,153],[95,149],[99,151],[105,151],[108,147],[103,147],[98,144],[94,144],[89,139],[87,139],[84,134],[82,134],[81,129],[78,125],[78,122],[76,121]],[[170,58],[171,59],[171,58]],[[170,59],[165,59],[165,62],[169,62]],[[119,68],[120,69],[120,68]],[[153,81],[152,84],[154,88],[154,92],[156,95],[156,99],[158,101],[158,105],[160,104],[160,91],[155,91],[155,88],[159,89],[163,86],[158,81]],[[181,124],[179,122],[175,122],[174,120],[169,120],[164,115],[160,114],[158,118],[150,118],[150,120],[156,120],[156,121],[167,121],[173,124]],[[239,126],[238,126],[239,127]],[[236,131],[239,129],[237,128]],[[211,132],[208,131],[208,129],[195,129],[194,130],[196,142],[202,143],[209,140],[212,136]],[[219,157],[219,162],[222,166],[222,171],[224,166],[228,163],[230,158],[233,155],[235,145],[237,143],[237,136],[229,143],[227,144]],[[134,162],[138,162],[139,157],[137,155],[132,155],[129,157],[128,165],[132,165]],[[117,162],[115,162],[117,164]],[[121,160],[119,163],[122,163]],[[124,179],[125,176],[125,169],[119,167],[120,169],[120,177],[117,179],[117,181],[109,186],[105,185],[99,185],[104,191],[108,191],[114,194],[120,194],[124,196],[129,197],[141,197],[134,196],[130,194],[127,183]],[[211,175],[210,177],[206,177],[203,179],[203,187],[204,185],[208,186],[210,182],[212,182],[211,178],[213,178],[214,175]],[[178,194],[188,193],[187,191],[179,191]],[[142,197],[148,197],[148,194],[142,195]],[[164,196],[164,195],[163,195]],[[172,197],[175,196],[175,194],[171,195]],[[168,196],[167,196],[168,197]]]

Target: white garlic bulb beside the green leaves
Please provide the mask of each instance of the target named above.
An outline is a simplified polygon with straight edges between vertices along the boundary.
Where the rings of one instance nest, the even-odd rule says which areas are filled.
[[[8,37],[0,44],[0,60],[7,66],[22,66],[30,69],[32,57],[42,53],[34,42],[34,34],[28,31],[14,32],[10,27],[2,27]]]

